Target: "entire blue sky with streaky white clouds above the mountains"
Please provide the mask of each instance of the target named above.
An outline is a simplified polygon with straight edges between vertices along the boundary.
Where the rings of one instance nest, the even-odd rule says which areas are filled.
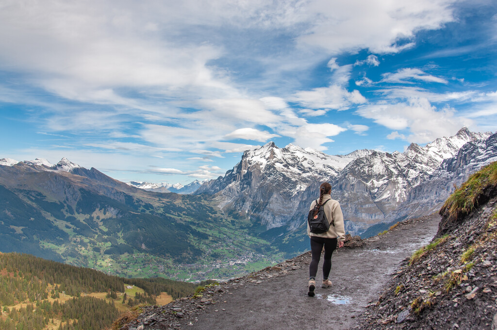
[[[497,127],[491,0],[1,0],[0,45],[0,158],[121,181]]]

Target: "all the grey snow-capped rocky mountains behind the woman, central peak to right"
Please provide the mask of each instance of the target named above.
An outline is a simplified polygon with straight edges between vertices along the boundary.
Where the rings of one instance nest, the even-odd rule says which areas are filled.
[[[463,128],[426,146],[412,143],[405,152],[357,150],[345,156],[293,145],[280,149],[271,142],[246,151],[233,170],[197,193],[216,194],[223,209],[255,218],[267,229],[292,230],[302,225],[319,182],[329,181],[332,198],[342,205],[346,229],[360,233],[375,223],[439,207],[450,194],[446,186],[454,175],[465,180],[497,155],[490,134]]]

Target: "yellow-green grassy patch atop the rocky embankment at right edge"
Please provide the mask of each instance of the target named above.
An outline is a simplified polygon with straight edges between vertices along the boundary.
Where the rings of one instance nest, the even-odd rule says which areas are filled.
[[[445,201],[440,214],[448,211],[449,219],[457,220],[478,206],[483,192],[497,187],[497,162],[490,163],[469,177],[469,179]]]

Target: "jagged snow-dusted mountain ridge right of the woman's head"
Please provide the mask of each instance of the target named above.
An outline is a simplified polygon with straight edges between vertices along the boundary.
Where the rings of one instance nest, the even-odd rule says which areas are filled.
[[[390,154],[375,151],[351,161],[336,177],[330,178],[332,198],[344,205],[343,215],[348,220],[346,229],[357,233],[378,222],[394,221],[410,214],[425,215],[420,212],[430,212],[439,207],[439,203],[449,195],[447,185],[450,186],[454,180],[452,174],[442,170],[443,166],[447,166],[444,164],[449,160],[456,162],[453,159],[457,157],[474,158],[476,163],[469,162],[473,165],[465,167],[460,178],[464,182],[470,173],[494,159],[489,153],[492,155],[495,149],[490,147],[485,149],[485,153],[483,149],[471,151],[478,149],[478,145],[494,145],[490,142],[494,135],[490,134],[474,133],[463,128],[454,136],[439,138],[424,147],[412,143],[404,152]],[[485,157],[478,161],[478,155],[483,157],[484,154]],[[430,184],[438,182],[441,176],[451,178],[447,181],[450,183],[446,185],[444,181],[444,185],[440,186],[446,189],[443,192]],[[308,197],[301,207],[314,198],[314,190],[315,187],[311,187],[306,192]],[[433,193],[435,195],[432,192],[436,192]],[[425,199],[426,196],[430,198]],[[420,206],[411,206],[414,204]],[[299,213],[293,215],[292,225],[296,226],[301,217]]]

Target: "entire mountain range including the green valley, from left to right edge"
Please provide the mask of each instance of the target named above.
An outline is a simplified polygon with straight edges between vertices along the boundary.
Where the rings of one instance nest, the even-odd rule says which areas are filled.
[[[346,230],[365,237],[435,211],[454,185],[496,159],[497,134],[467,128],[393,153],[327,155],[269,142],[224,176],[184,187],[123,183],[66,158],[4,158],[0,251],[122,276],[230,276],[308,250],[304,219],[323,181]]]

